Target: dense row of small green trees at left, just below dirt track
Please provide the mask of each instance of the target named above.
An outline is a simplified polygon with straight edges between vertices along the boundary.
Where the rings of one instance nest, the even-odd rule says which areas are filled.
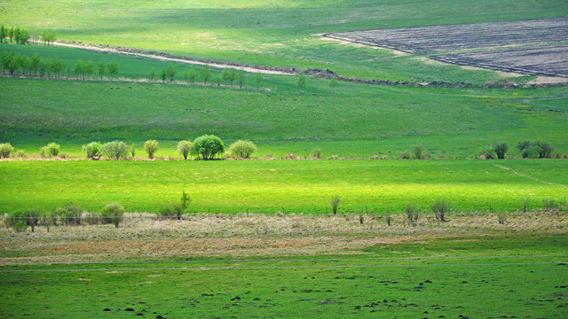
[[[104,60],[100,60],[95,66],[91,61],[83,62],[82,59],[79,59],[74,66],[67,66],[61,58],[42,58],[37,53],[28,57],[27,55],[15,55],[13,51],[10,51],[10,53],[2,52],[0,64],[2,64],[4,74],[8,71],[11,75],[20,73],[22,75],[39,75],[41,78],[44,75],[49,78],[51,74],[55,78],[62,76],[66,67],[67,76],[70,76],[70,73],[73,72],[77,79],[83,77],[83,80],[85,76],[91,77],[91,74],[95,72],[101,79],[106,73],[114,78],[119,72],[116,61],[106,64]]]

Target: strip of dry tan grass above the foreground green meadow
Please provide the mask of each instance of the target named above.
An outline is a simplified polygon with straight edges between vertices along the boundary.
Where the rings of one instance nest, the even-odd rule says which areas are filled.
[[[568,233],[568,215],[509,213],[505,224],[496,214],[450,215],[437,222],[422,215],[415,227],[406,215],[392,216],[229,216],[199,215],[184,220],[151,217],[112,225],[43,227],[36,232],[0,230],[0,262],[79,262],[160,260],[193,257],[278,257],[360,254],[375,245],[424,243],[433,239],[478,240],[487,237]]]

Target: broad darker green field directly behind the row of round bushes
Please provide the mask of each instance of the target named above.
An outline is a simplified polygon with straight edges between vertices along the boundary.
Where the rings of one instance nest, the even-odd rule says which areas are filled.
[[[522,140],[544,140],[568,151],[566,87],[548,89],[447,89],[341,83],[309,79],[301,94],[290,77],[275,91],[132,82],[1,78],[0,141],[29,155],[50,142],[67,155],[83,155],[92,141],[134,143],[144,156],[147,139],[157,156],[174,156],[176,144],[202,134],[256,143],[255,156],[288,153],[322,157],[398,158],[422,144],[432,157],[473,157],[496,142],[509,154]],[[272,80],[271,80],[272,81]],[[280,81],[280,80],[279,80]],[[283,85],[283,84],[282,84]]]

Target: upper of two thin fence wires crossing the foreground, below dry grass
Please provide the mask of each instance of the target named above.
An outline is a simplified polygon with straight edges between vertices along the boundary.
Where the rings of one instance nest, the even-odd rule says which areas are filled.
[[[491,255],[491,256],[414,256],[414,257],[360,257],[360,258],[319,258],[319,259],[266,259],[266,260],[206,260],[206,261],[78,261],[78,262],[29,262],[4,263],[10,266],[54,266],[54,265],[122,265],[122,264],[193,264],[193,263],[249,263],[249,262],[319,262],[319,261],[429,261],[429,260],[481,260],[497,258],[568,258],[568,255]]]

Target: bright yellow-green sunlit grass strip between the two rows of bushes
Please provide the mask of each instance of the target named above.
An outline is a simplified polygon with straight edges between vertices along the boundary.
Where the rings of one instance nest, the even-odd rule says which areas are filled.
[[[430,211],[445,199],[454,211],[519,211],[568,195],[568,161],[509,160],[246,160],[4,161],[0,213],[52,210],[75,202],[99,211],[111,202],[129,212],[158,212],[193,198],[192,213],[402,213],[411,203]]]

